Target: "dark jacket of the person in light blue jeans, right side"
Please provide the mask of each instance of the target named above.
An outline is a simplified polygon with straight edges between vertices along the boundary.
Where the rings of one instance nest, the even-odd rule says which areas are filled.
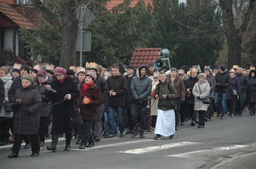
[[[228,87],[231,85],[231,79],[228,71],[225,70],[223,73],[217,73],[215,75],[216,79],[216,87],[214,89],[214,92],[228,92]],[[221,84],[221,86],[218,86],[217,84]]]

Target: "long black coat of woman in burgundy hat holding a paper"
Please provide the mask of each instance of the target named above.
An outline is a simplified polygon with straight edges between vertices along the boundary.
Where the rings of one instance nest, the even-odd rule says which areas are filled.
[[[71,94],[70,100],[65,100],[55,106],[53,106],[53,126],[52,132],[54,134],[72,133],[72,129],[69,128],[69,114],[74,114],[74,100],[79,97],[79,91],[76,87],[74,80],[67,76],[63,83],[57,79],[53,80],[49,84],[57,92],[51,92],[46,90],[46,97],[53,98],[53,104],[60,102],[67,94]]]

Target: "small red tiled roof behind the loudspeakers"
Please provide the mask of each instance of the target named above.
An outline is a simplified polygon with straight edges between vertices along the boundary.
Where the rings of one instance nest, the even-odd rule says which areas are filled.
[[[141,48],[136,49],[131,57],[130,65],[133,65],[135,69],[139,69],[140,65],[154,63],[155,59],[159,59],[158,52],[162,48]]]

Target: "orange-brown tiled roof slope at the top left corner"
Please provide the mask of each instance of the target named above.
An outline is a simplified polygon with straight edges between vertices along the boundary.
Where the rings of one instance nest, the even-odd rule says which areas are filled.
[[[19,27],[22,27],[24,25],[28,30],[32,30],[33,28],[38,29],[28,19],[20,15],[17,11],[15,11],[11,6],[6,3],[0,2],[0,12],[3,13],[15,24],[17,24]]]

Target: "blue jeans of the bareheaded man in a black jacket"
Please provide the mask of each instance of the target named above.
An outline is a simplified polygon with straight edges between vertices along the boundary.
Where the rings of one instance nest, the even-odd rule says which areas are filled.
[[[124,108],[123,107],[111,107],[109,106],[109,125],[110,125],[110,133],[114,133],[116,122],[115,122],[115,112],[117,113],[117,118],[119,122],[119,131],[125,131],[125,123],[124,123]]]

